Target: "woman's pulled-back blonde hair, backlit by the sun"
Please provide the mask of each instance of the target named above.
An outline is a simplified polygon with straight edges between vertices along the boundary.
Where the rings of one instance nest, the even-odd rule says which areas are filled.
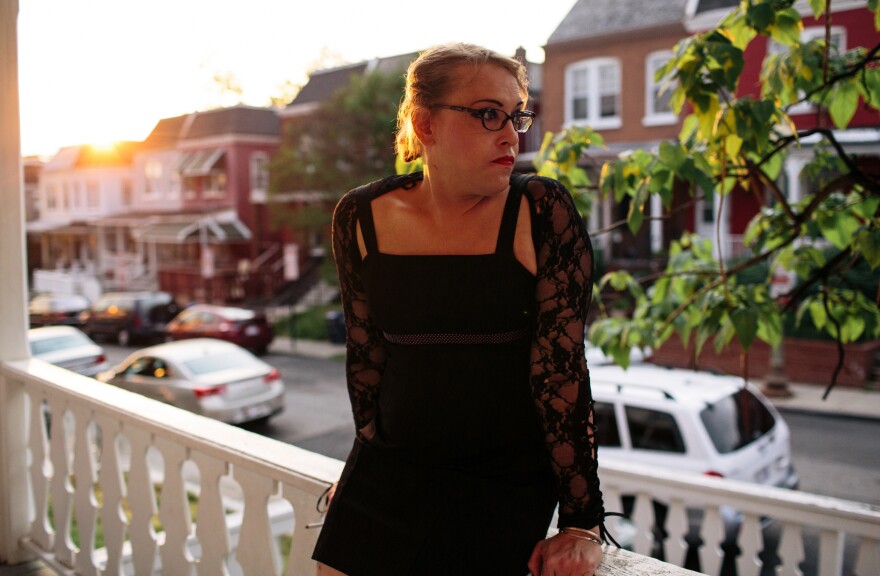
[[[413,130],[413,117],[419,108],[430,108],[460,82],[458,67],[470,65],[474,71],[484,64],[494,64],[510,72],[519,85],[523,102],[528,98],[529,79],[525,64],[488,48],[474,44],[441,44],[429,48],[409,65],[406,87],[397,108],[397,136],[394,148],[406,162],[420,158],[422,143]]]

